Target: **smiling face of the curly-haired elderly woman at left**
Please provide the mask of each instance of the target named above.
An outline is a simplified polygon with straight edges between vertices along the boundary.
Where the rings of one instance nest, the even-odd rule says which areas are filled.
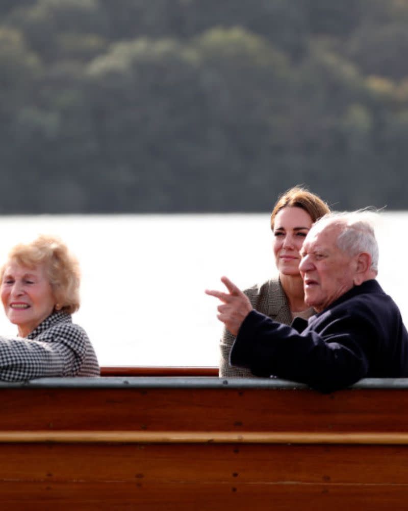
[[[42,264],[28,268],[9,261],[0,293],[6,316],[18,326],[22,337],[38,327],[54,310],[53,290]]]

